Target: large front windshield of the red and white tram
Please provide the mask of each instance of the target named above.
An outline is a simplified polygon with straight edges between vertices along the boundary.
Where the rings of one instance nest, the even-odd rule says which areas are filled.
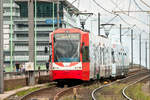
[[[54,61],[80,61],[80,34],[57,33],[54,35]]]

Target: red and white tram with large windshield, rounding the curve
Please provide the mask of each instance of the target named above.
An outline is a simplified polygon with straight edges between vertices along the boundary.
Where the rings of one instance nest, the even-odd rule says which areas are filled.
[[[78,28],[56,29],[50,34],[50,45],[50,80],[89,81],[127,74],[127,51],[106,37]]]

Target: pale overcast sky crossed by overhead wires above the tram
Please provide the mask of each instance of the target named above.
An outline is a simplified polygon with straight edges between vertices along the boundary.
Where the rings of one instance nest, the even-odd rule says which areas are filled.
[[[80,11],[94,13],[88,18],[86,28],[93,34],[97,34],[97,13],[101,13],[101,23],[107,23],[116,15],[112,11],[150,11],[150,0],[69,0]],[[105,10],[104,10],[105,9]],[[109,37],[113,41],[119,41],[119,25],[122,24],[122,33],[128,31],[128,27],[134,30],[134,63],[139,63],[139,34],[142,34],[142,65],[145,66],[145,41],[148,39],[149,17],[147,12],[124,12],[118,13],[110,24],[115,24],[110,31]],[[123,45],[130,48],[129,30],[122,37]],[[104,29],[101,29],[104,34]],[[131,50],[130,50],[131,51]],[[149,55],[149,54],[148,54]],[[149,62],[149,61],[148,61]]]

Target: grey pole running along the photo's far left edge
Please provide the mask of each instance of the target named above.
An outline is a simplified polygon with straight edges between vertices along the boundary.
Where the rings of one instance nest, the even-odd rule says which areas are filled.
[[[4,93],[3,75],[3,0],[0,0],[0,94]]]

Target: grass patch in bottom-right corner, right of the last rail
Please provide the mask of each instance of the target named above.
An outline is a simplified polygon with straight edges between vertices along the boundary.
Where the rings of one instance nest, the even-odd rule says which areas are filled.
[[[126,90],[127,95],[129,97],[132,97],[133,100],[150,100],[150,96],[147,96],[142,91],[142,86],[143,86],[143,83],[138,83],[138,84],[135,84],[135,85],[129,87]]]

